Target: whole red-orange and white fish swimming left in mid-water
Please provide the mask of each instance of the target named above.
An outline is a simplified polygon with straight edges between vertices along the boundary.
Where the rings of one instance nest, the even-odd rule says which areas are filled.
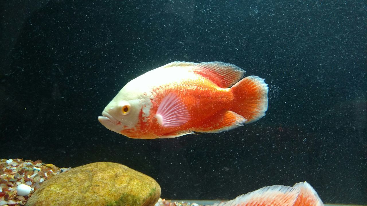
[[[268,85],[223,62],[172,62],[128,82],[98,117],[130,138],[217,133],[257,121],[268,108]]]

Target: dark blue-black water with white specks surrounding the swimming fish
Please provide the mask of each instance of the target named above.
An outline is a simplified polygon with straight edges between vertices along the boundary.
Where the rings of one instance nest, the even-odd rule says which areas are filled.
[[[232,199],[308,181],[367,204],[366,1],[1,1],[0,158],[122,163],[163,198]],[[166,63],[265,78],[269,109],[220,134],[136,140],[97,117]],[[143,83],[143,82],[142,82]]]

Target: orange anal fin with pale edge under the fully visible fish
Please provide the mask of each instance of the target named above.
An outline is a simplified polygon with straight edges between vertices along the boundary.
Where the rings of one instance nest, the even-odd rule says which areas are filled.
[[[246,119],[241,115],[233,111],[223,110],[207,119],[199,128],[193,130],[195,132],[218,133],[242,126],[244,122],[246,122]]]

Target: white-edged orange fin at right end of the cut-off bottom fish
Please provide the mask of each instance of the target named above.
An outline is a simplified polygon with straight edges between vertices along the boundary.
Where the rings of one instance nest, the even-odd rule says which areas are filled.
[[[307,182],[297,183],[293,187],[301,189],[294,206],[324,206],[317,192]]]

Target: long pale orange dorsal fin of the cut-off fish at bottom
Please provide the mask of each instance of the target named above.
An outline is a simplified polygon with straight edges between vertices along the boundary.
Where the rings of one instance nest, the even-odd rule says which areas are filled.
[[[213,206],[293,206],[298,194],[299,188],[273,185]]]

